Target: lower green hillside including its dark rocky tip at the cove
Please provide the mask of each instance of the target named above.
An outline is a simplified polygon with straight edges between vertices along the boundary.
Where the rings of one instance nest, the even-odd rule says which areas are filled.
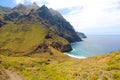
[[[10,22],[0,29],[0,37],[0,54],[4,55],[53,53],[49,46],[62,52],[72,50],[68,41],[54,33],[48,33],[48,30],[39,23]]]

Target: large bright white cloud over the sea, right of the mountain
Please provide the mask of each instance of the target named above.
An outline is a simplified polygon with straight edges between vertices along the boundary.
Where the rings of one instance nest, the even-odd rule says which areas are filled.
[[[103,33],[111,34],[117,30],[120,31],[120,5],[117,4],[119,0],[89,0],[81,4],[84,9],[72,10],[64,17],[71,22],[71,24],[78,31],[84,31],[85,33]],[[111,31],[110,30],[113,30]],[[95,30],[95,31],[94,31]],[[101,33],[100,33],[101,31]],[[120,32],[117,31],[118,34]]]

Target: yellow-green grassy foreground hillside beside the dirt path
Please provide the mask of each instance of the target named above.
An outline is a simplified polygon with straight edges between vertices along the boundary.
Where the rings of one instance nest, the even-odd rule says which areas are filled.
[[[25,80],[119,80],[120,51],[87,59],[70,59],[56,51],[31,57],[0,55],[0,68],[9,69]]]

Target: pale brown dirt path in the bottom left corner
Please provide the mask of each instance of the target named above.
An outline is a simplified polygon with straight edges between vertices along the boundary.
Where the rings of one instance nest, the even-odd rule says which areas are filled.
[[[21,76],[17,75],[16,73],[5,70],[6,74],[10,77],[10,80],[24,80]]]

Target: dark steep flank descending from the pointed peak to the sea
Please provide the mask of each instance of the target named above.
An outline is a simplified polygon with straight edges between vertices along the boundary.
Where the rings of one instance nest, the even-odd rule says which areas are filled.
[[[43,5],[35,13],[40,19],[42,18],[42,20],[44,20],[44,24],[52,26],[50,27],[50,30],[59,36],[65,38],[69,42],[81,41],[72,25],[66,21],[59,12],[53,9],[48,9]]]

